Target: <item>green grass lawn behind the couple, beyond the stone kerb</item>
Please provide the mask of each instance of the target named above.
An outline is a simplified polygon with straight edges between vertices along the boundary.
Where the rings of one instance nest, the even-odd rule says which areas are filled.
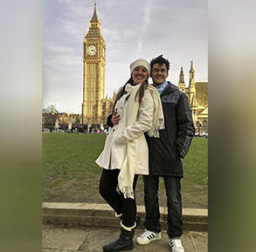
[[[105,203],[99,194],[101,168],[94,160],[103,149],[106,135],[43,133],[43,201]],[[194,138],[183,160],[183,208],[207,208],[208,140]],[[143,205],[143,182],[136,189],[138,205]],[[163,179],[159,203],[166,206]]]

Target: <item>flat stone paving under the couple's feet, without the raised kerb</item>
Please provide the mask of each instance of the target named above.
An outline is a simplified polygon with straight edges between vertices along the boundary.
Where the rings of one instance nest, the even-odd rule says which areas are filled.
[[[42,228],[42,252],[101,252],[102,246],[114,241],[120,228],[102,228],[80,225],[44,224]],[[141,235],[143,229],[136,229],[135,238]],[[134,242],[135,242],[134,238]],[[185,231],[182,236],[185,252],[207,252],[208,233]],[[162,239],[150,242],[148,245],[137,245],[133,252],[165,252],[171,251],[168,244],[168,235],[162,232]]]

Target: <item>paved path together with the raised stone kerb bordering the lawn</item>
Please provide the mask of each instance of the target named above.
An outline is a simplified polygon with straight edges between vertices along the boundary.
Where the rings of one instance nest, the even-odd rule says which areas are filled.
[[[137,245],[133,252],[171,251],[167,229],[167,208],[160,208],[162,239],[148,245]],[[143,206],[137,206],[142,222],[135,230],[135,238],[144,231]],[[208,251],[207,209],[183,209],[185,252]],[[113,242],[120,233],[120,220],[106,204],[43,203],[42,252],[102,252],[102,247]],[[134,242],[135,242],[134,238]]]

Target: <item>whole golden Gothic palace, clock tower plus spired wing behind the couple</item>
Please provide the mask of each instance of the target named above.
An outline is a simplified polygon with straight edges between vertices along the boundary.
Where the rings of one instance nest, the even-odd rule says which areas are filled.
[[[115,99],[104,98],[105,90],[106,44],[100,31],[100,20],[97,15],[96,2],[93,16],[90,19],[89,31],[83,43],[83,104],[82,124],[103,126],[107,116],[112,112]],[[208,127],[208,82],[196,82],[193,61],[190,66],[190,83],[186,87],[183,68],[179,75],[178,88],[185,92],[189,99],[195,126]]]

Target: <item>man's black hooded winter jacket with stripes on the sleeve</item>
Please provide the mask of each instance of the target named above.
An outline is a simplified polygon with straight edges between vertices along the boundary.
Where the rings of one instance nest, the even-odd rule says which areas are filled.
[[[164,130],[160,138],[146,139],[149,144],[149,174],[183,177],[182,159],[188,153],[195,133],[185,93],[168,82],[161,94]]]

